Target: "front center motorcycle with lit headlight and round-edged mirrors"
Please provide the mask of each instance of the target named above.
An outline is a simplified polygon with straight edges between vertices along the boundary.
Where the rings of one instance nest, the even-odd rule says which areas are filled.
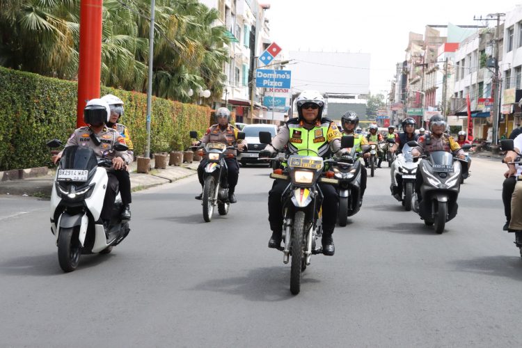
[[[259,133],[260,142],[269,144],[269,132]],[[350,143],[351,140],[351,143]],[[342,147],[351,148],[353,136],[343,137]],[[312,255],[322,254],[322,247],[316,248],[316,240],[322,237],[323,195],[318,183],[338,184],[338,180],[324,176],[324,168],[333,160],[318,156],[299,155],[299,152],[315,152],[303,149],[292,152],[285,159],[275,159],[283,163],[283,169],[270,174],[272,179],[285,180],[288,186],[283,201],[283,262],[287,264],[292,256],[290,268],[290,292],[299,294],[301,272],[310,264]],[[317,153],[316,153],[317,155]],[[262,153],[260,153],[260,158]],[[274,160],[274,159],[272,159]]]

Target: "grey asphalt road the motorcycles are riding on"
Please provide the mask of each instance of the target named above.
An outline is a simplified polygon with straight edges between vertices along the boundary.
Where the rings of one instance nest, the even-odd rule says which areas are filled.
[[[134,193],[132,231],[63,274],[49,202],[0,196],[2,347],[521,347],[522,260],[502,231],[503,165],[474,159],[443,235],[368,178],[361,212],[301,293],[267,248],[267,168],[203,222],[196,176]]]

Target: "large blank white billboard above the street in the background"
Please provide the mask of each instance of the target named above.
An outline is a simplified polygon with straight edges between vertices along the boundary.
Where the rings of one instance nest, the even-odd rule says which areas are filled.
[[[292,88],[321,93],[367,94],[370,92],[370,54],[290,51]]]

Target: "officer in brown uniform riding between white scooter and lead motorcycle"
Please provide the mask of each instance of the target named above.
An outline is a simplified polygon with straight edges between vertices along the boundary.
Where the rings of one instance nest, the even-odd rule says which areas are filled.
[[[246,149],[246,141],[242,139],[237,139],[237,133],[239,130],[230,125],[230,111],[221,107],[216,110],[216,114],[214,115],[214,120],[216,122],[215,125],[212,125],[207,129],[203,138],[200,141],[196,141],[192,143],[192,145],[200,145],[201,143],[223,143],[228,146],[232,146],[237,143],[237,149],[242,151]],[[230,203],[237,203],[237,198],[235,196],[235,188],[237,185],[237,180],[239,177],[239,164],[237,164],[237,151],[236,150],[228,150],[228,153],[233,155],[232,157],[226,157],[225,161],[227,164],[228,172],[228,201]],[[198,179],[201,184],[201,187],[205,185],[204,175],[205,175],[205,166],[207,166],[208,159],[205,157],[200,161],[198,166]],[[203,192],[195,197],[198,200],[203,199]]]

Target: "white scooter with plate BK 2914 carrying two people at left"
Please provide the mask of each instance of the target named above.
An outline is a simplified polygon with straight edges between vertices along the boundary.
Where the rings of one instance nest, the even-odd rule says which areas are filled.
[[[61,145],[57,139],[47,143],[49,148]],[[125,151],[127,145],[116,144],[113,150]],[[81,254],[110,253],[129,234],[128,221],[120,217],[119,193],[107,232],[100,219],[109,181],[106,168],[111,167],[111,159],[98,159],[91,148],[74,145],[63,150],[51,193],[51,231],[65,272],[77,268]]]

